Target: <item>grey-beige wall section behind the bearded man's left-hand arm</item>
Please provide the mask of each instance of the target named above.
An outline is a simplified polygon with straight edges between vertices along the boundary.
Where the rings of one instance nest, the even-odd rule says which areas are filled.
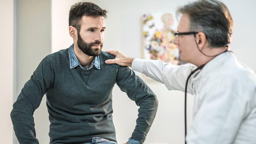
[[[17,0],[17,93],[16,100],[24,84],[30,79],[40,61],[51,53],[51,0]],[[49,118],[46,98],[34,112],[36,137],[39,143],[50,141]],[[15,144],[18,142],[15,140]]]

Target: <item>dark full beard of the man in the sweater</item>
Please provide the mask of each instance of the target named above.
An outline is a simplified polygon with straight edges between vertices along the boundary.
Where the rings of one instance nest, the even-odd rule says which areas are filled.
[[[86,55],[89,56],[93,56],[96,57],[98,55],[100,55],[101,52],[101,48],[103,46],[103,43],[101,41],[95,41],[95,42],[91,42],[91,43],[86,43],[80,36],[80,34],[78,33],[78,39],[77,39],[77,46],[79,47],[79,49],[85,53]],[[100,45],[100,48],[92,48],[93,45]]]

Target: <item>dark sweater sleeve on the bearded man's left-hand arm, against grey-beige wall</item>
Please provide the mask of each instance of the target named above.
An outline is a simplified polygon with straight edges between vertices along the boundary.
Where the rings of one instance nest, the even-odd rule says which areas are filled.
[[[38,144],[33,114],[54,80],[50,60],[44,58],[21,90],[11,111],[15,135],[20,144]]]

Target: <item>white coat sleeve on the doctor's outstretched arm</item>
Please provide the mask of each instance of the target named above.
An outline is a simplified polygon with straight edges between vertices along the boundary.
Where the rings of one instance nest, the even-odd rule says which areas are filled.
[[[176,66],[162,60],[134,59],[132,62],[134,71],[142,72],[146,76],[163,83],[169,91],[185,91],[186,80],[195,67],[192,64]],[[187,91],[193,94],[191,80],[189,80]]]

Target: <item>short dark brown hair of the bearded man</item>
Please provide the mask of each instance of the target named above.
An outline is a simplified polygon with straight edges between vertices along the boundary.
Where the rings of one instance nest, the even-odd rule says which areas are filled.
[[[69,26],[77,29],[78,33],[81,28],[81,19],[83,16],[91,16],[93,18],[103,16],[107,18],[107,10],[101,9],[98,5],[89,2],[79,2],[71,6],[69,11]]]

